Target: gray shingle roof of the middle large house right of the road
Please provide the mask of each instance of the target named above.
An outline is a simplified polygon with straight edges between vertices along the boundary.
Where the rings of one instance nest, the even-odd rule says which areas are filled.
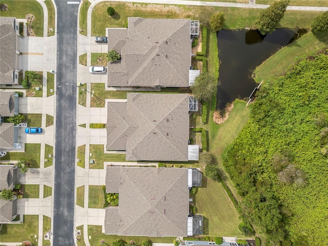
[[[128,93],[108,103],[107,150],[127,160],[188,161],[189,95]]]

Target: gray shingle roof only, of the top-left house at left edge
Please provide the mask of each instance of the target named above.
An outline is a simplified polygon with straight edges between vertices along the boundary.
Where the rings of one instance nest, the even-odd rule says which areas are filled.
[[[16,69],[16,31],[13,17],[0,17],[0,84],[14,84]]]

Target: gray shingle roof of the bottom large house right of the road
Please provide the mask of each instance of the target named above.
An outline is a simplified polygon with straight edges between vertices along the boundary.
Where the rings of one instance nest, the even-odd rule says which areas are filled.
[[[105,234],[187,236],[188,169],[108,167],[106,192],[119,201],[106,209]]]

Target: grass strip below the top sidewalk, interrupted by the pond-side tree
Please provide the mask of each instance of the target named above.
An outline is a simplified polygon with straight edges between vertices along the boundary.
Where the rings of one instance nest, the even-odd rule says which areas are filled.
[[[106,9],[114,7],[117,17],[110,17]],[[201,23],[208,23],[211,16],[224,12],[224,29],[255,28],[254,21],[261,9],[244,9],[212,6],[180,6],[137,4],[121,2],[101,2],[92,11],[92,36],[105,35],[106,27],[124,27],[129,16],[142,16],[145,18],[191,18],[198,19]],[[310,28],[311,19],[320,12],[287,11],[281,20],[281,25],[287,28]]]

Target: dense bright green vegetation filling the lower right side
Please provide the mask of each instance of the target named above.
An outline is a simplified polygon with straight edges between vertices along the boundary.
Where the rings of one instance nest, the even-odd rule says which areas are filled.
[[[223,154],[242,218],[276,245],[328,244],[327,64],[324,50],[265,83]]]

